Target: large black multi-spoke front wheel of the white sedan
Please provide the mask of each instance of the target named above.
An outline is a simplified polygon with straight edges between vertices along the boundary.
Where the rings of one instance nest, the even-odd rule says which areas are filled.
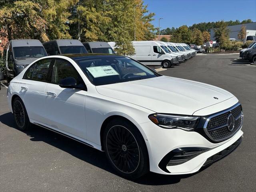
[[[116,119],[104,130],[108,161],[121,176],[136,179],[149,171],[148,150],[138,129],[128,120]]]

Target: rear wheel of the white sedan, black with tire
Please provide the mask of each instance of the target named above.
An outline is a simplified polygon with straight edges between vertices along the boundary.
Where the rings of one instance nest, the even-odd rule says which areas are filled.
[[[28,130],[30,128],[30,121],[28,118],[28,113],[21,98],[14,98],[12,102],[12,112],[14,116],[14,121],[18,129],[23,131]]]

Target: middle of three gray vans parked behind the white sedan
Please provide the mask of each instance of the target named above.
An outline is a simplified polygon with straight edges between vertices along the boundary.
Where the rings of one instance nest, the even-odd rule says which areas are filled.
[[[43,46],[48,55],[88,53],[83,44],[77,39],[56,39],[44,42]]]

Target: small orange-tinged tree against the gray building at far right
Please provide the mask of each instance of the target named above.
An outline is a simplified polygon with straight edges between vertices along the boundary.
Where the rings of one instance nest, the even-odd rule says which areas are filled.
[[[217,22],[216,29],[214,29],[214,38],[220,44],[220,47],[227,46],[230,43],[228,24],[224,21]]]

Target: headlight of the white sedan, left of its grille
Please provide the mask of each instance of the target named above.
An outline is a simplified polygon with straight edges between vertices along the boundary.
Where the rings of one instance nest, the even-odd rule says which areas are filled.
[[[194,131],[199,117],[198,116],[180,116],[171,114],[151,114],[148,118],[156,125],[165,129],[182,129],[186,131]]]

